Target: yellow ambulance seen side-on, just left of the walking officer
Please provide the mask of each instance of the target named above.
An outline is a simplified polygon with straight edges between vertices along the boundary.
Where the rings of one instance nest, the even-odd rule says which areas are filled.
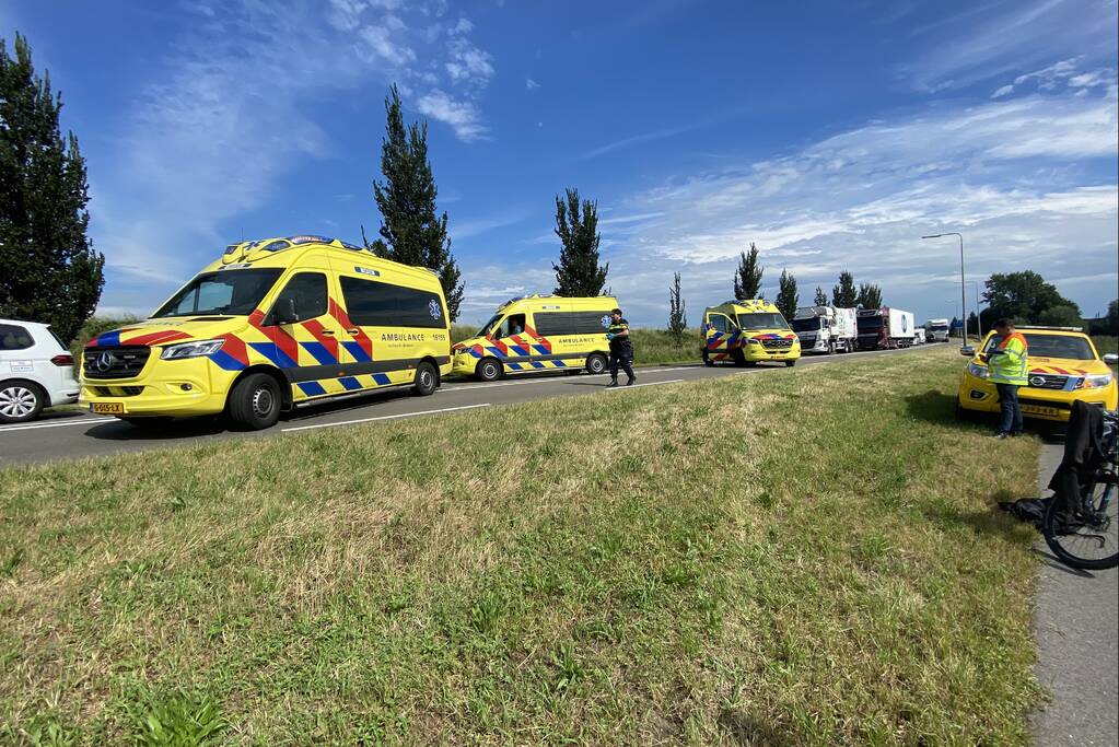
[[[454,346],[455,374],[493,381],[505,374],[606,370],[606,329],[618,301],[525,295],[498,308],[478,334]]]

